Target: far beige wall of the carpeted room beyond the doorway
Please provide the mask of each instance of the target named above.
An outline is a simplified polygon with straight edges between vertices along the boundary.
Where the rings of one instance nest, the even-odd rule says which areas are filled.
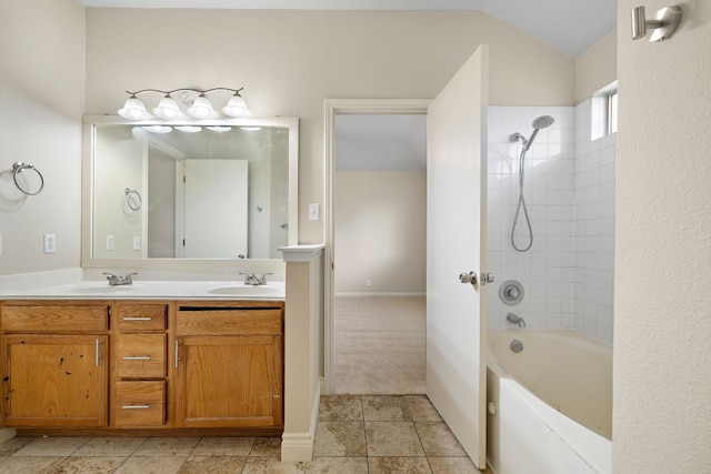
[[[423,295],[425,172],[338,171],[334,188],[336,293]]]

